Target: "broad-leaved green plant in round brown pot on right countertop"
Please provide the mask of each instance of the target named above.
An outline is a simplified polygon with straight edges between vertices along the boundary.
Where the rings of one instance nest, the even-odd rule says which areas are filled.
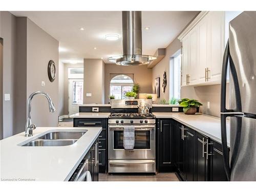
[[[178,102],[181,106],[183,106],[183,112],[187,115],[194,115],[197,112],[197,108],[203,105],[196,99],[183,98]]]

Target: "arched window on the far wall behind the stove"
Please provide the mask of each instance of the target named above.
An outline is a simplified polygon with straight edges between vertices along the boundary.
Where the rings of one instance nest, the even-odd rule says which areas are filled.
[[[115,75],[110,81],[110,95],[115,99],[125,99],[125,93],[132,89],[133,79],[128,75]]]

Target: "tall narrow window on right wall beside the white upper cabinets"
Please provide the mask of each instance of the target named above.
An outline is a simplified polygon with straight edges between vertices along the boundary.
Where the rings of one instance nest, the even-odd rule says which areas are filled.
[[[181,51],[170,58],[170,98],[180,99]]]

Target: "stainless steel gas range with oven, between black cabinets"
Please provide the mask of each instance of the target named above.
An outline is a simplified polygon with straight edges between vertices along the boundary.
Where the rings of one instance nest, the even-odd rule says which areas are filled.
[[[156,172],[156,119],[152,100],[112,100],[109,117],[109,173]],[[139,110],[144,106],[148,110]],[[145,112],[145,113],[139,113]],[[123,148],[124,125],[135,126],[133,150]]]

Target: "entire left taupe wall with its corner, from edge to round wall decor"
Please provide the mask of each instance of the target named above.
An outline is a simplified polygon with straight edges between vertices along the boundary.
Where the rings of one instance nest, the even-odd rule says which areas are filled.
[[[47,66],[50,59],[58,69],[58,41],[26,17],[15,17],[0,12],[0,34],[3,38],[3,94],[10,94],[10,101],[3,101],[4,138],[24,132],[26,102],[38,90],[48,92],[58,109],[58,75],[49,81]],[[46,82],[41,87],[41,81]],[[32,101],[32,121],[37,126],[57,126],[58,113],[50,114],[45,98]]]

